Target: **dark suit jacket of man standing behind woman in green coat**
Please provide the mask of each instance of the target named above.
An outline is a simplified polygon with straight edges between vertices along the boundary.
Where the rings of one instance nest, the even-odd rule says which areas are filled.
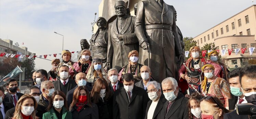
[[[54,91],[62,91],[61,90],[61,80],[56,80],[52,82],[54,85]],[[75,88],[77,86],[76,81],[69,78],[68,83],[67,83],[67,92],[70,91],[71,89]],[[63,92],[63,91],[62,91]],[[65,95],[67,95],[67,92],[63,92]]]

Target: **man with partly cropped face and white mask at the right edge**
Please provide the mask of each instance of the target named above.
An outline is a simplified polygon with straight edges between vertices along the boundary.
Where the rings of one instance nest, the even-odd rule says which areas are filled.
[[[256,66],[247,66],[240,70],[239,82],[248,103],[256,105]],[[238,115],[236,109],[224,115],[224,119],[249,119],[248,115]]]

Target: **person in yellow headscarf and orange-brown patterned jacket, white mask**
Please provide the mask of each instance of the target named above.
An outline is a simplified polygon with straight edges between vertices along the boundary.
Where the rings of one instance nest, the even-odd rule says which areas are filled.
[[[204,80],[201,83],[201,93],[218,97],[228,109],[228,99],[232,98],[229,83],[222,78],[216,77],[214,69],[215,67],[211,64],[206,64],[202,67]]]

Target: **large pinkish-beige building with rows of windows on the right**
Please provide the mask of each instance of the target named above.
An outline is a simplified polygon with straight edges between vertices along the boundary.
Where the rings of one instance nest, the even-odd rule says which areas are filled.
[[[204,31],[194,37],[197,45],[202,48],[206,43],[214,43],[217,50],[240,49],[235,55],[235,51],[221,57],[221,61],[229,68],[243,67],[247,65],[249,59],[256,59],[256,49],[250,55],[248,48],[256,47],[256,5],[235,14],[218,25]],[[247,48],[244,54],[241,48]]]

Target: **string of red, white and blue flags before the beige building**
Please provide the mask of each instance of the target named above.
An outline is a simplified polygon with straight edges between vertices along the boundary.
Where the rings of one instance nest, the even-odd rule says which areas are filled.
[[[241,48],[241,53],[244,54],[244,52],[246,51],[247,48]],[[255,48],[248,48],[250,55],[253,54]],[[206,53],[212,52],[213,50],[203,50],[202,51],[202,56],[205,57]],[[226,55],[226,51],[228,51],[228,54],[231,55],[231,53],[233,51],[235,51],[235,55],[237,55],[240,51],[240,48],[238,49],[225,49],[225,50],[216,50],[219,54],[221,54],[221,56]],[[221,51],[221,53],[220,53]],[[185,51],[185,57],[189,56],[189,51]]]

